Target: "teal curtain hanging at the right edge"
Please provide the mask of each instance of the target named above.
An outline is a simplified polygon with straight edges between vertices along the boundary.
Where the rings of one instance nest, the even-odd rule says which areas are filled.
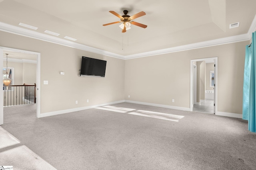
[[[256,31],[252,33],[252,44],[246,46],[243,88],[243,119],[248,120],[248,130],[256,132]]]

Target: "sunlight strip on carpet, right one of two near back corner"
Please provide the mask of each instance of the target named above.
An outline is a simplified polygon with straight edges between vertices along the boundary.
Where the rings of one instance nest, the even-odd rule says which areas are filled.
[[[179,121],[184,117],[180,115],[172,115],[172,114],[159,113],[154,111],[145,111],[145,110],[137,110],[136,112],[130,112],[128,114],[152,117],[157,119],[164,119],[169,121]]]

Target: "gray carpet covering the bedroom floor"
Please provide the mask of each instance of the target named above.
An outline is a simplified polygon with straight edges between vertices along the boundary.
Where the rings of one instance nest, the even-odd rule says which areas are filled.
[[[256,169],[256,134],[247,130],[247,121],[130,103],[112,106],[184,117],[170,121],[94,108],[38,119],[34,104],[5,107],[1,127],[19,143],[0,147],[0,166],[58,170]]]

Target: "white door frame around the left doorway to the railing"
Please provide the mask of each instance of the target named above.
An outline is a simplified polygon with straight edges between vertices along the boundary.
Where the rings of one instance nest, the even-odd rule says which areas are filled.
[[[17,53],[26,53],[37,55],[37,64],[36,64],[36,89],[37,89],[37,97],[36,97],[36,117],[40,117],[40,53],[33,51],[26,51],[21,49],[13,49],[8,47],[0,46],[0,70],[3,69],[3,50],[5,51],[14,51]],[[3,88],[3,84],[0,83],[0,89]],[[3,93],[0,93],[0,125],[3,124]]]

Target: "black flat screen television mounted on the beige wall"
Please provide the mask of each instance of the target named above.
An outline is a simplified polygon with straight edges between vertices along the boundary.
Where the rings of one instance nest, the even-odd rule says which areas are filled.
[[[107,61],[82,56],[80,76],[105,77]]]

